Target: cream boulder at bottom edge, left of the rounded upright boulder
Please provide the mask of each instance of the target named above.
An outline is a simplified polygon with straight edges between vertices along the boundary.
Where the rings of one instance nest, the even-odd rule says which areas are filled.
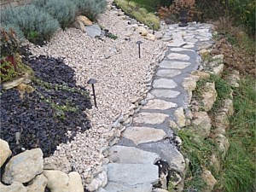
[[[48,179],[47,187],[51,192],[69,192],[69,177],[66,173],[54,170],[44,170],[44,176]]]

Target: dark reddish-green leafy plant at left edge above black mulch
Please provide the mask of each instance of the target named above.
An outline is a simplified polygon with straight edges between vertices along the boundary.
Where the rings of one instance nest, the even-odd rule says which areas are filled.
[[[3,28],[0,30],[0,47],[1,57],[13,55],[18,52],[20,41],[12,28],[9,28],[9,31]]]

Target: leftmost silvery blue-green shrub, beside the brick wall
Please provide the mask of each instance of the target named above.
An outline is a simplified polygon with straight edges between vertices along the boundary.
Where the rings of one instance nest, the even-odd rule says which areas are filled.
[[[32,43],[49,40],[59,28],[58,20],[34,5],[26,5],[1,12],[3,24],[19,26],[24,36]]]

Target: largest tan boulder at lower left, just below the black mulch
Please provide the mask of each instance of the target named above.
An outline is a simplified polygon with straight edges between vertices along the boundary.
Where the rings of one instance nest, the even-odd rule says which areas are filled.
[[[21,154],[15,155],[5,166],[3,173],[4,183],[26,183],[43,172],[44,160],[43,152],[40,148],[26,150]]]

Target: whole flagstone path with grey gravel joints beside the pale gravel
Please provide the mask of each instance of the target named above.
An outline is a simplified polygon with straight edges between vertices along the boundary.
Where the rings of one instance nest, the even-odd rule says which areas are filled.
[[[167,27],[162,38],[168,47],[165,58],[156,70],[143,107],[126,125],[119,143],[110,148],[108,184],[102,191],[154,191],[153,185],[159,183],[158,160],[166,161],[169,170],[182,177],[185,160],[178,150],[180,139],[170,123],[186,125],[185,118],[181,118],[189,99],[184,86],[189,86],[188,76],[199,66],[198,51],[212,45],[211,27],[196,23]]]

